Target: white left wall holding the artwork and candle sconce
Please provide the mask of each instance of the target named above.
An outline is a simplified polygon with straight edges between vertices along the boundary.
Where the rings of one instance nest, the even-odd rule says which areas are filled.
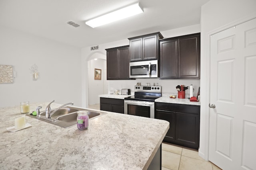
[[[20,102],[74,102],[81,106],[81,49],[0,27],[0,64],[13,65],[13,84],[0,84],[0,107]],[[32,80],[30,68],[40,76]]]

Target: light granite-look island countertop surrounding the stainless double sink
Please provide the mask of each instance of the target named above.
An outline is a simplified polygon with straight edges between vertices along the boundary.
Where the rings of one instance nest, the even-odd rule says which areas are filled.
[[[46,108],[49,102],[30,104]],[[52,104],[52,108],[59,107]],[[0,108],[0,169],[144,170],[169,129],[169,122],[107,112],[87,130],[62,128],[26,116],[32,127],[7,131],[22,116],[19,106]]]

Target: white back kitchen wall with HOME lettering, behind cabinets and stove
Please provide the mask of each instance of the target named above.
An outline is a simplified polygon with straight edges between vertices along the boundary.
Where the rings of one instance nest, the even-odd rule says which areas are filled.
[[[167,30],[167,31],[160,31],[160,32],[162,33],[164,38],[198,33],[198,32],[200,32],[200,24],[191,25],[188,27],[181,27],[178,29],[172,29],[172,30]],[[127,37],[127,38],[129,38],[129,37]],[[90,51],[90,47],[84,47],[82,49],[82,65],[83,65],[82,72],[84,73],[84,71],[87,69],[84,66],[87,65],[86,62],[89,59],[91,59],[92,55],[94,55],[95,53],[102,53],[102,54],[106,55],[105,49],[124,46],[124,45],[129,45],[128,39],[115,41],[115,42],[111,42],[111,43],[106,43],[106,44],[101,44],[101,45],[99,45],[100,49],[97,51]],[[88,92],[86,91],[87,88],[84,88],[84,87],[88,87],[87,75],[83,74],[82,79],[83,79],[82,80],[82,84],[83,84],[82,85],[82,87],[83,87],[82,104],[84,105],[84,107],[87,107],[88,106],[88,98],[87,98],[86,94],[88,94]],[[193,84],[194,89],[195,89],[194,90],[195,95],[198,92],[198,87],[200,84],[199,79],[198,80],[159,80],[158,78],[139,78],[136,80],[108,80],[108,93],[110,92],[110,90],[115,90],[115,89],[121,90],[122,88],[130,88],[131,91],[133,92],[136,82],[141,82],[142,85],[146,85],[146,83],[148,83],[148,82],[150,82],[151,85],[153,85],[153,83],[155,82],[155,83],[158,83],[159,86],[162,86],[162,92],[174,93],[174,94],[177,93],[177,90],[175,87],[178,84],[180,84],[180,85],[184,84],[185,86],[190,86],[190,84]]]

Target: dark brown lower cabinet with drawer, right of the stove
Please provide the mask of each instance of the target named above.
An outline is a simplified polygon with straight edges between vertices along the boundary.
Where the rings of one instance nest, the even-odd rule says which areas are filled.
[[[155,102],[155,118],[170,122],[164,142],[199,148],[200,106]]]

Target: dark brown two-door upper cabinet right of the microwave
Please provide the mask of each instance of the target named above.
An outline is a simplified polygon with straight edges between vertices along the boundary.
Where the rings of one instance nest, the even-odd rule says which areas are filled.
[[[159,41],[160,79],[200,78],[200,33]]]

